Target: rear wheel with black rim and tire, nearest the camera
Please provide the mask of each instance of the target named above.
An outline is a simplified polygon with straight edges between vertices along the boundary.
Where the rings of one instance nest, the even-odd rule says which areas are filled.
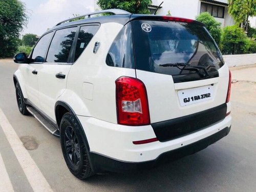
[[[82,127],[74,115],[66,113],[60,122],[60,144],[64,159],[70,172],[78,179],[94,175],[88,146],[83,142]]]

